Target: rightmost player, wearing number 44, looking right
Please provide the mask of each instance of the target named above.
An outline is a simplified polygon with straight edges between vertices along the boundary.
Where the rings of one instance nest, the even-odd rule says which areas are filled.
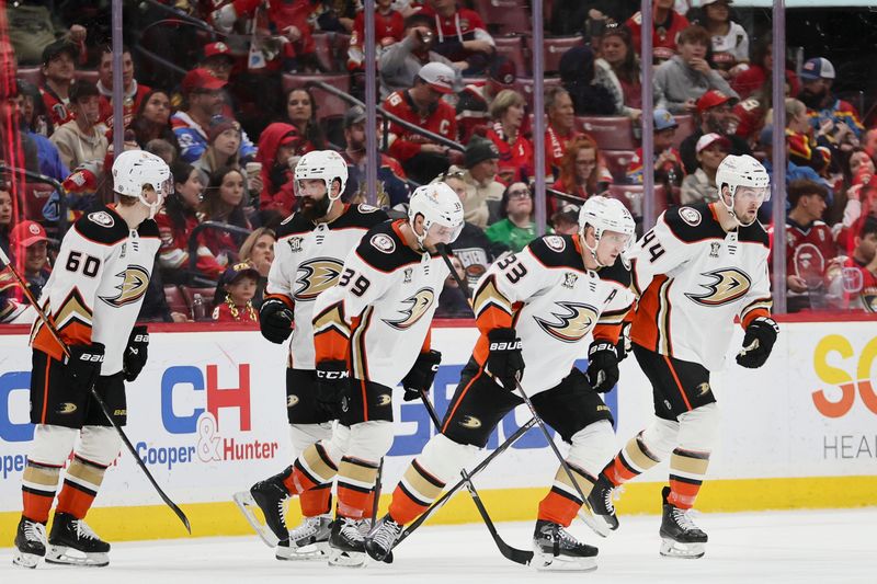
[[[661,554],[699,558],[707,535],[688,515],[718,437],[710,371],[725,366],[734,318],[745,331],[737,363],[758,368],[778,328],[771,318],[767,232],[758,221],[770,198],[767,172],[750,156],[718,168],[719,201],[669,209],[631,252],[639,296],[631,327],[634,355],[649,378],[654,421],[600,474],[589,502],[618,526],[613,489],[670,456],[663,489]]]

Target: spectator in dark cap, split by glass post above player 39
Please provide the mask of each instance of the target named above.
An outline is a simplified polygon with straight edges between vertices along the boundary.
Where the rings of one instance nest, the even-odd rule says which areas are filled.
[[[348,163],[348,182],[342,198],[346,203],[367,203],[365,193],[365,110],[354,105],[344,114],[344,151],[341,158]],[[408,202],[408,185],[405,170],[399,161],[377,152],[380,165],[377,169],[378,207],[395,207]]]

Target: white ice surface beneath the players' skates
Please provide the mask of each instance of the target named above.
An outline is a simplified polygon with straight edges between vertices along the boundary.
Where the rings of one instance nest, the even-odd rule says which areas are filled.
[[[0,582],[88,582],[89,584],[341,583],[415,582],[634,582],[877,583],[877,508],[844,511],[704,514],[708,534],[699,560],[658,554],[657,516],[620,517],[613,537],[600,540],[583,524],[572,531],[600,547],[591,573],[543,573],[499,554],[482,525],[422,527],[396,550],[396,562],[353,570],[324,562],[280,562],[255,536],[114,543],[109,568],[13,569],[11,549],[0,549]],[[529,545],[532,524],[499,524],[502,537]],[[5,542],[4,542],[5,543]]]

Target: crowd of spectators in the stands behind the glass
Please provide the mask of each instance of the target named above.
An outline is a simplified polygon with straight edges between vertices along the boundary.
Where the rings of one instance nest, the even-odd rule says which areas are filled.
[[[467,287],[540,227],[574,233],[578,205],[590,196],[615,193],[635,215],[637,196],[640,203],[660,196],[659,208],[715,202],[716,170],[729,153],[752,153],[771,172],[778,162],[771,151],[772,39],[736,22],[731,0],[653,2],[654,50],[646,66],[653,68],[654,110],[646,115],[653,116],[659,188],[645,195],[636,191],[643,182],[636,147],[643,115],[638,1],[554,2],[549,26],[576,42],[545,79],[543,169],[535,167],[533,140],[533,116],[543,112],[533,111],[532,80],[525,60],[515,58],[525,54],[500,50],[520,37],[499,34],[480,2],[376,2],[371,66],[388,114],[386,123],[379,119],[376,152],[366,151],[362,106],[323,115],[328,94],[299,82],[341,76],[346,91],[362,98],[369,64],[360,2],[163,3],[214,34],[184,76],[169,72],[157,82],[152,75],[156,87],[138,81],[141,61],[123,49],[123,128],[113,124],[113,51],[94,32],[105,26],[62,24],[58,14],[20,8],[30,2],[0,9],[10,26],[0,56],[12,65],[3,72],[0,159],[64,183],[62,192],[37,196],[15,173],[0,182],[0,247],[34,291],[50,273],[59,226],[112,199],[115,131],[124,134],[124,148],[155,152],[172,170],[175,192],[157,216],[157,284],[143,314],[164,321],[254,322],[275,229],[296,209],[295,165],[312,150],[335,149],[348,162],[345,203],[365,202],[368,163],[378,165],[377,205],[391,214],[405,213],[419,184],[451,185],[465,209],[453,248]],[[37,21],[41,34],[21,34],[20,26]],[[343,47],[333,67],[319,50],[327,34]],[[856,106],[832,91],[834,65],[808,57],[798,67],[782,64],[789,307],[875,311],[877,129],[867,129]],[[589,131],[594,116],[616,121],[615,138],[629,134],[620,138],[630,147]],[[538,172],[549,186],[545,226],[537,226],[534,210]],[[762,219],[777,218],[765,208]],[[449,278],[440,316],[470,316],[467,294]],[[24,301],[2,274],[0,295]],[[195,297],[206,305],[201,310]]]

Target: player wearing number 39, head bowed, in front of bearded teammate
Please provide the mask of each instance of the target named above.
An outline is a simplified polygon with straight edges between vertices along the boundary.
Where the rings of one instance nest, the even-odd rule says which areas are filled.
[[[462,228],[463,205],[451,187],[418,187],[408,220],[368,231],[344,261],[338,285],[316,300],[318,400],[340,400],[341,413],[332,438],[296,459],[287,485],[300,494],[338,476],[330,564],[365,563],[369,495],[392,444],[392,390],[401,381],[419,396],[432,385],[441,354],[430,348],[430,328],[449,275],[435,245],[451,243]]]

